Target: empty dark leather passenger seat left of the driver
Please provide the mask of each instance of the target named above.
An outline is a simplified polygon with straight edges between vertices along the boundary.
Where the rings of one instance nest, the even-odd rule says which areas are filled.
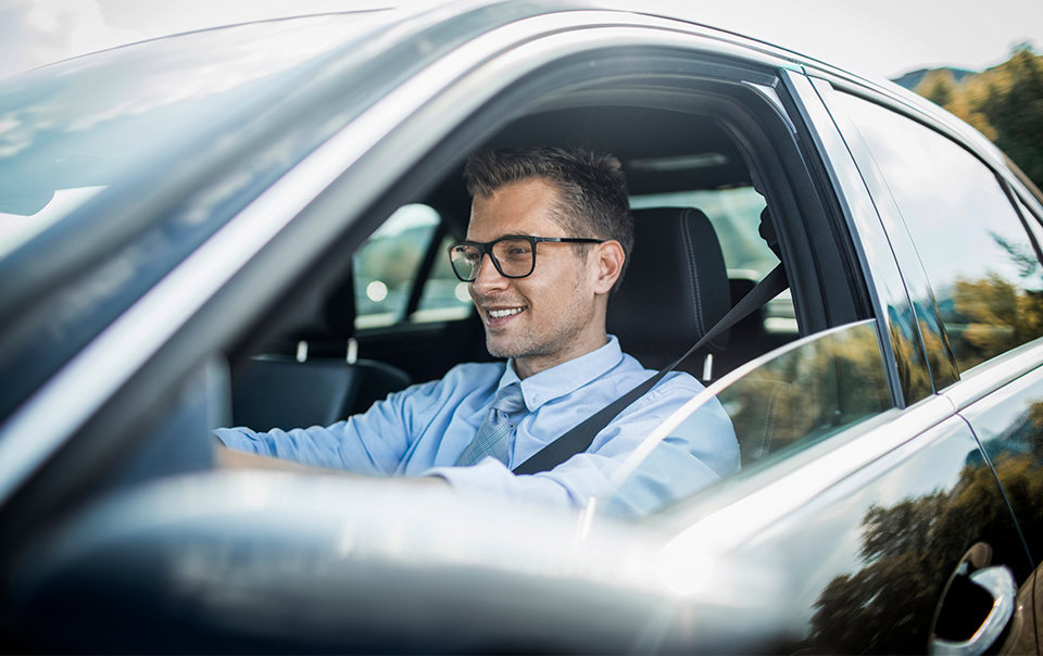
[[[293,331],[291,344],[304,344],[296,355],[254,356],[237,371],[234,424],[261,431],[328,426],[409,387],[410,377],[401,369],[353,356],[354,318],[349,275],[315,316]],[[344,357],[307,357],[309,342],[340,343]]]

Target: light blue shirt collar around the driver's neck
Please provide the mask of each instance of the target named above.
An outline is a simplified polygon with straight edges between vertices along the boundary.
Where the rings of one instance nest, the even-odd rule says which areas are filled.
[[[511,358],[500,378],[500,384],[497,386],[497,392],[511,383],[520,381],[525,407],[530,413],[536,412],[548,401],[570,394],[591,380],[607,374],[621,361],[623,350],[614,335],[608,336],[608,343],[604,346],[544,369],[525,380],[518,378],[514,370],[514,358]]]

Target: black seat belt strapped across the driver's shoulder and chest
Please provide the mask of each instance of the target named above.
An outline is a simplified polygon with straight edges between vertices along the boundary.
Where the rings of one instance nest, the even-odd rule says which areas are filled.
[[[744,295],[741,301],[736,303],[734,307],[729,310],[725,316],[720,317],[720,320],[717,321],[713,328],[707,330],[702,339],[695,342],[695,345],[689,349],[684,355],[677,358],[674,364],[661,370],[655,376],[649,378],[619,399],[616,399],[605,407],[598,411],[598,413],[592,415],[590,418],[586,419],[578,426],[575,426],[568,432],[538,451],[532,455],[532,457],[515,467],[514,474],[538,474],[540,471],[549,471],[577,453],[582,453],[590,449],[590,445],[594,441],[594,437],[596,437],[604,427],[608,426],[608,424],[631,403],[646,394],[649,390],[654,388],[661,380],[663,380],[667,374],[673,371],[677,365],[681,364],[695,351],[699,351],[704,344],[706,344],[706,342],[714,339],[728,328],[731,328],[740,319],[752,313],[754,310],[761,307],[775,297],[779,295],[779,293],[781,293],[787,287],[789,287],[789,285],[786,280],[786,272],[782,269],[782,265],[779,264],[771,269],[768,275],[764,277],[764,279],[757,282],[757,285],[750,290],[750,293]]]

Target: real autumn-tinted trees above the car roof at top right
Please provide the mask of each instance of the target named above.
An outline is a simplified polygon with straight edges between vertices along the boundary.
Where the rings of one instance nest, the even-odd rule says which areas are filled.
[[[947,71],[932,71],[914,91],[978,128],[1043,187],[1043,55],[1029,43],[959,83]]]

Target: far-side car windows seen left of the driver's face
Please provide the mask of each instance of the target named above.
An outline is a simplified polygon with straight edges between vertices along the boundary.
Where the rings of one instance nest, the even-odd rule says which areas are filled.
[[[424,285],[417,312],[409,320],[463,318],[470,310],[467,285],[453,275],[447,256],[438,256],[427,279],[420,270],[438,237],[441,216],[432,207],[410,204],[399,209],[355,252],[355,327],[376,328],[404,320],[415,283]],[[449,248],[440,239],[439,248]]]

